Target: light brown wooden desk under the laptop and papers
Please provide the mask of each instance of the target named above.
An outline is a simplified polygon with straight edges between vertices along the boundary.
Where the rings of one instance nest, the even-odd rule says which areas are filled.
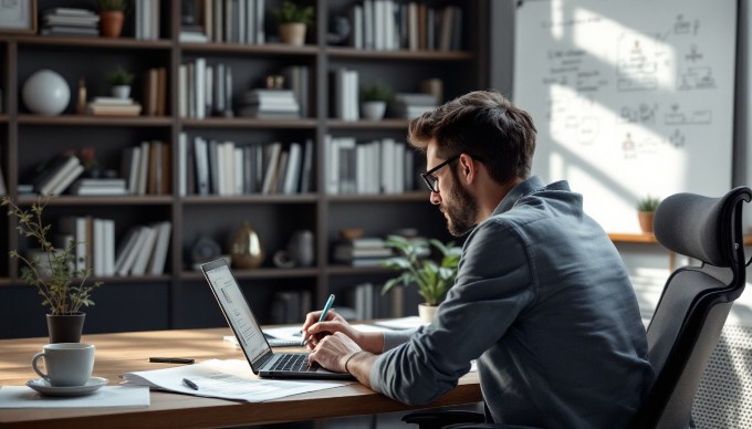
[[[94,375],[119,383],[119,375],[133,370],[158,369],[169,364],[150,364],[149,356],[244,359],[234,345],[222,341],[229,328],[135,332],[84,335],[83,343],[96,346]],[[38,378],[31,369],[32,356],[48,338],[0,341],[0,385],[22,386]],[[363,385],[295,395],[267,402],[239,402],[189,395],[152,391],[148,408],[93,409],[0,409],[3,428],[206,428],[257,425],[294,420],[373,415],[420,408],[457,406],[481,399],[477,373],[460,379],[457,388],[435,402],[410,407]]]

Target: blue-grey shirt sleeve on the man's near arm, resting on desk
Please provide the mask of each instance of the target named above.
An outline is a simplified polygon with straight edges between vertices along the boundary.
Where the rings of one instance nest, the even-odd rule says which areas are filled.
[[[503,258],[498,249],[506,250]],[[386,352],[370,370],[374,390],[406,404],[427,404],[452,389],[532,299],[531,283],[516,236],[499,224],[479,226],[464,244],[457,281],[436,320],[395,348],[387,348],[385,336]]]

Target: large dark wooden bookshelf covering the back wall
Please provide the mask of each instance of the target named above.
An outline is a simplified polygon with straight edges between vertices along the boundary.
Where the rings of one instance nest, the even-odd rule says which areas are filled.
[[[66,148],[91,146],[98,163],[119,169],[123,149],[143,140],[161,140],[177,147],[181,133],[192,142],[196,136],[239,143],[274,140],[290,144],[311,139],[314,143],[312,191],[293,195],[180,195],[177,168],[170,171],[170,192],[125,197],[79,197],[62,195],[52,200],[45,217],[55,224],[66,216],[94,216],[115,221],[116,241],[137,224],[168,220],[173,224],[166,270],[160,275],[103,276],[105,282],[93,296],[96,305],[86,308],[85,333],[138,329],[191,328],[224,326],[224,321],[199,272],[191,270],[191,245],[200,237],[215,240],[222,250],[231,233],[248,220],[259,233],[265,250],[261,268],[237,270],[243,291],[262,323],[270,322],[269,308],[280,291],[309,291],[312,305],[320,307],[330,293],[345,294],[363,282],[379,282],[394,275],[379,268],[354,268],[335,264],[332,244],[343,228],[363,228],[369,236],[385,236],[396,229],[417,228],[421,236],[449,241],[441,213],[428,202],[428,192],[416,180],[405,192],[385,195],[331,195],[325,192],[324,169],[327,165],[323,147],[326,136],[351,136],[358,144],[380,138],[405,142],[407,119],[387,117],[379,122],[342,121],[331,108],[330,73],[337,67],[356,70],[362,83],[383,80],[395,92],[418,92],[426,79],[443,82],[445,100],[468,91],[488,87],[489,42],[487,11],[490,1],[463,2],[446,0],[420,2],[462,9],[462,46],[451,51],[375,51],[330,45],[328,20],[345,17],[353,0],[306,0],[315,7],[316,23],[309,30],[306,44],[291,46],[274,40],[276,29],[267,14],[267,43],[195,43],[180,42],[181,1],[161,0],[160,31],[157,40],[135,40],[133,23],[121,38],[44,36],[0,33],[0,166],[9,195],[29,206],[35,196],[19,195],[18,186],[30,171],[49,157]],[[408,1],[395,0],[395,4]],[[267,12],[281,0],[265,0]],[[42,13],[51,7],[91,8],[85,0],[36,0]],[[294,119],[258,119],[250,117],[182,117],[178,113],[178,71],[196,59],[209,64],[224,63],[233,70],[232,93],[261,86],[264,77],[285,66],[305,65],[311,85],[309,115]],[[143,97],[140,73],[150,67],[167,69],[167,114],[165,116],[98,117],[75,114],[79,79],[86,82],[87,97],[109,95],[106,73],[117,66],[136,72],[134,98]],[[63,75],[71,88],[71,102],[59,116],[30,113],[22,101],[21,87],[27,77],[40,69]],[[171,166],[177,166],[177,150],[170,151]],[[416,171],[425,163],[416,154]],[[46,332],[44,308],[33,287],[19,279],[19,263],[8,257],[10,249],[25,250],[14,223],[0,217],[0,337],[41,336]],[[307,229],[315,238],[315,262],[310,268],[280,269],[272,255],[284,249],[293,231]],[[415,295],[415,297],[411,297]],[[387,308],[394,314],[417,312],[417,293],[405,291],[403,308]],[[337,303],[343,304],[343,303]],[[126,315],[116,310],[126,308]],[[386,314],[391,315],[391,314]]]

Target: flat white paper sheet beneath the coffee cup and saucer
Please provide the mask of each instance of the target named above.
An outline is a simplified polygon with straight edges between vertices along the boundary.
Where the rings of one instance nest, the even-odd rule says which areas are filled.
[[[148,407],[149,400],[145,386],[104,386],[79,397],[42,396],[28,386],[0,387],[0,408]]]

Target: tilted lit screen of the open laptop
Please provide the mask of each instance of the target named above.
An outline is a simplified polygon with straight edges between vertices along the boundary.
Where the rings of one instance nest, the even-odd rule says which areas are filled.
[[[261,326],[251,312],[238,282],[224,260],[201,265],[211,291],[222,307],[228,324],[238,337],[248,360],[255,366],[259,358],[272,353]],[[255,369],[255,368],[254,368]]]

